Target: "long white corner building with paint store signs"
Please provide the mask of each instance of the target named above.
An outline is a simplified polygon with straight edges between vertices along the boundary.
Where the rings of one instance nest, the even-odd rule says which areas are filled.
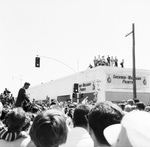
[[[133,98],[132,69],[97,66],[77,74],[61,79],[47,82],[41,85],[30,87],[28,93],[30,98],[44,100],[47,96],[59,101],[65,101],[72,97],[74,83],[79,84],[79,93],[83,98],[97,101],[110,100],[122,101]],[[136,70],[136,91],[137,98],[145,104],[150,103],[150,71]],[[77,96],[79,97],[79,96]]]

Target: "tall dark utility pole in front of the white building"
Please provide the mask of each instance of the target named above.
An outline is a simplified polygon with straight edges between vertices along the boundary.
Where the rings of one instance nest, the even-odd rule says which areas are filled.
[[[133,48],[132,48],[132,62],[133,62],[133,67],[132,67],[132,76],[133,76],[133,99],[137,98],[137,93],[136,93],[136,67],[135,67],[135,29],[134,29],[134,23],[132,24],[132,31],[126,35],[129,36],[132,34],[133,38]]]

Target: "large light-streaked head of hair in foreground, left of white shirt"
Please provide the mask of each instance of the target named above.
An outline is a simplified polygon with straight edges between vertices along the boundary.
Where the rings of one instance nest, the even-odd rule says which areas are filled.
[[[30,129],[31,140],[37,147],[58,147],[66,142],[67,134],[66,117],[56,109],[38,114]]]

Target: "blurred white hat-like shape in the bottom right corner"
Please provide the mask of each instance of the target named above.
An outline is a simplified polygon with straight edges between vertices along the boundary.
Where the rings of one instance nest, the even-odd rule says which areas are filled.
[[[104,135],[113,147],[150,147],[150,113],[131,111],[121,124],[107,127]]]

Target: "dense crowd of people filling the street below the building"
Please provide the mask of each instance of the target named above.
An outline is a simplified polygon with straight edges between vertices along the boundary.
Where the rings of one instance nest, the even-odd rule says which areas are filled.
[[[150,146],[150,106],[138,99],[92,104],[77,104],[71,99],[61,104],[51,99],[38,104],[26,101],[29,86],[24,84],[13,104],[0,99],[0,146]],[[24,106],[24,100],[32,109]]]

